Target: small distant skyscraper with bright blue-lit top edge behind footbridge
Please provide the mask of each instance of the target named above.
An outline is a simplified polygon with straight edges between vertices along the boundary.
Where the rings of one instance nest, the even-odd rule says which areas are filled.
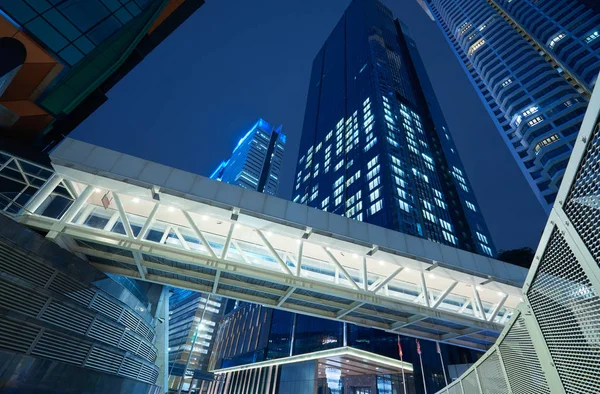
[[[282,126],[274,128],[259,119],[210,178],[276,195],[285,140]]]

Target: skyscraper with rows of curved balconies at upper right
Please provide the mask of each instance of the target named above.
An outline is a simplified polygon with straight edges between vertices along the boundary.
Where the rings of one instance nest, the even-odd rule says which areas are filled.
[[[427,0],[546,212],[600,70],[600,14],[585,4]]]

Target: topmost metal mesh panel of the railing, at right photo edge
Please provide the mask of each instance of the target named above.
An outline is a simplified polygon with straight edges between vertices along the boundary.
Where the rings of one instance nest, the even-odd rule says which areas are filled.
[[[600,261],[600,124],[591,136],[564,211],[594,259]]]

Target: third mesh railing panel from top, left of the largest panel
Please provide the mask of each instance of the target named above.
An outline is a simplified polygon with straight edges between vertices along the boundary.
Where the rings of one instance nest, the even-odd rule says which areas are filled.
[[[550,394],[550,388],[522,316],[515,320],[498,348],[508,375],[508,382],[514,393]]]

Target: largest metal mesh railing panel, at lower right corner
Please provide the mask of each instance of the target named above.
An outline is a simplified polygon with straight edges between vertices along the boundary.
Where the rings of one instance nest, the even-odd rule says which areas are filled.
[[[565,390],[600,392],[600,298],[557,230],[528,298]]]

